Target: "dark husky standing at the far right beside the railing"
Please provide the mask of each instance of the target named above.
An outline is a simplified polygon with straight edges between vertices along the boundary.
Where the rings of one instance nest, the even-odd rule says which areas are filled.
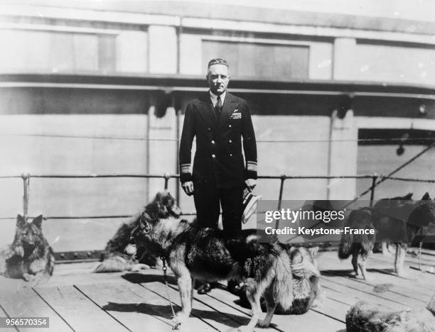
[[[421,201],[381,199],[373,207],[352,211],[345,221],[345,226],[376,231],[376,235],[343,233],[341,236],[338,257],[343,260],[350,255],[353,256],[355,276],[358,276],[359,267],[363,278],[367,280],[365,262],[372,253],[375,240],[379,240],[396,243],[394,272],[402,277],[408,243],[412,243],[417,237],[431,235],[435,231],[435,202],[427,192],[421,197]]]

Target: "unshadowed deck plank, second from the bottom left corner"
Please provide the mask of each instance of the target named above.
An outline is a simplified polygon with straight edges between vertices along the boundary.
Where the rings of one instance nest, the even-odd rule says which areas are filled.
[[[37,287],[35,291],[68,321],[75,331],[127,331],[73,286]]]

